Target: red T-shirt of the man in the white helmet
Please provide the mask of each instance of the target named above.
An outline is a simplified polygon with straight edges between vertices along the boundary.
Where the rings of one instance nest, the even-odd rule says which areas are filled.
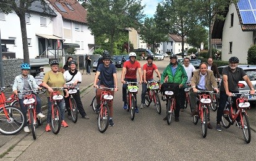
[[[140,63],[138,61],[135,61],[134,64],[132,64],[129,61],[124,62],[124,68],[126,68],[126,75],[124,78],[129,79],[136,79],[137,78],[137,69],[140,68]]]

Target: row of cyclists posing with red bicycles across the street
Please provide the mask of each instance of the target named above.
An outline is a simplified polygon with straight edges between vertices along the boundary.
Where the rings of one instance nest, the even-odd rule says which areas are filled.
[[[194,66],[191,65],[190,59],[188,57],[184,58],[184,64],[181,65],[177,62],[177,56],[172,54],[169,59],[170,62],[164,68],[162,75],[158,71],[158,68],[153,64],[153,56],[147,57],[147,63],[143,65],[141,69],[140,62],[136,60],[136,53],[129,53],[129,60],[124,62],[122,73],[121,73],[121,83],[122,85],[122,101],[124,102],[123,109],[129,108],[127,105],[127,83],[126,82],[137,82],[137,73],[139,75],[138,83],[142,85],[142,94],[141,94],[141,105],[140,108],[143,109],[145,105],[145,94],[147,90],[148,81],[153,80],[153,72],[155,71],[156,75],[160,78],[160,88],[164,88],[163,83],[174,83],[178,87],[178,91],[175,94],[176,99],[176,108],[174,110],[175,121],[179,122],[180,111],[184,111],[185,104],[185,92],[184,89],[187,88],[187,85],[190,84],[190,108],[192,115],[197,115],[197,91],[215,91],[220,93],[220,104],[217,111],[216,117],[216,130],[221,131],[221,116],[223,115],[223,110],[228,100],[228,96],[232,96],[232,93],[239,93],[237,83],[243,78],[247,85],[250,87],[250,94],[255,93],[255,89],[249,80],[249,77],[245,74],[242,68],[237,67],[239,59],[237,57],[231,57],[229,59],[229,65],[223,68],[223,76],[220,84],[220,89],[218,89],[217,81],[220,81],[220,74],[218,73],[218,68],[213,64],[213,59],[209,58],[208,62],[202,62],[198,70],[195,70]],[[50,62],[51,70],[45,73],[43,78],[43,83],[41,84],[46,90],[46,97],[48,98],[48,114],[47,114],[47,124],[45,131],[51,131],[51,100],[50,93],[53,93],[54,87],[64,87],[67,88],[67,84],[72,84],[77,86],[77,84],[82,81],[81,73],[77,70],[77,63],[73,60],[72,57],[69,57],[66,62],[66,67],[64,73],[58,72],[59,62],[53,60]],[[22,64],[21,65],[22,73],[19,76],[16,76],[13,92],[19,96],[19,104],[22,109],[24,117],[26,117],[27,109],[23,106],[23,96],[17,91],[23,91],[28,89],[41,89],[40,86],[36,84],[35,78],[32,75],[29,75],[30,65]],[[142,72],[143,71],[143,72]],[[114,64],[111,63],[111,56],[108,51],[103,51],[103,57],[98,62],[98,67],[96,68],[95,79],[93,81],[93,86],[96,89],[96,112],[100,109],[100,96],[102,90],[109,90],[112,96],[114,92],[118,91],[117,83],[117,72]],[[100,89],[99,87],[111,88],[110,89]],[[77,108],[79,114],[82,118],[88,119],[89,117],[85,113],[83,104],[79,94],[79,88],[77,86],[78,92],[75,94],[74,99],[77,103]],[[60,91],[64,96],[64,99],[58,102],[60,112],[61,112],[61,125],[67,127],[67,123],[64,119],[65,107],[67,109],[68,118],[70,118],[70,108],[69,108],[69,93],[67,89]],[[37,117],[43,118],[45,115],[41,113],[41,99],[35,93],[36,96],[36,114]],[[233,99],[237,99],[234,97]],[[235,101],[234,101],[235,102]],[[113,101],[108,102],[109,106],[109,126],[114,126],[113,123]],[[166,107],[167,110],[167,107]],[[208,110],[208,128],[212,129],[213,126],[210,124],[210,110]],[[139,113],[137,107],[137,98],[135,99],[135,112]],[[27,118],[25,118],[27,120]],[[166,120],[166,117],[163,118]],[[237,118],[237,122],[240,122]],[[24,124],[23,131],[30,132],[27,123]]]

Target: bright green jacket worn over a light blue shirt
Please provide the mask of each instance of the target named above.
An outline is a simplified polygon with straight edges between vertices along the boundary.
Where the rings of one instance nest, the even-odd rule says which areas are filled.
[[[179,83],[179,85],[186,86],[187,82],[187,73],[184,67],[178,63],[176,72],[173,75],[173,72],[171,70],[171,64],[167,65],[167,67],[164,69],[162,75],[161,75],[161,81],[160,83],[163,84],[164,78],[168,76],[168,83]]]

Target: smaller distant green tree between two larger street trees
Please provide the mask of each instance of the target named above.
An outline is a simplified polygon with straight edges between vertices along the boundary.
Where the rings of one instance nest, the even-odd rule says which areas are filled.
[[[156,27],[155,19],[146,18],[143,27],[140,28],[140,36],[143,41],[153,46],[153,52],[155,52],[155,46],[157,43],[168,41],[166,34],[161,33],[160,29]]]

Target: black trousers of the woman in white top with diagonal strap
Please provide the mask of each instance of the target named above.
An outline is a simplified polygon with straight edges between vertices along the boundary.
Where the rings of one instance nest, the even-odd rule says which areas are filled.
[[[64,96],[65,95],[66,94],[65,94],[65,91],[64,91]],[[86,115],[86,113],[85,113],[85,109],[83,109],[83,104],[82,104],[82,101],[81,101],[79,90],[77,90],[77,93],[72,94],[72,96],[74,97],[75,102],[77,103],[77,109],[79,110],[80,115],[82,115],[82,117],[84,117]],[[66,106],[66,109],[67,109],[67,115],[71,115],[70,105],[69,105],[69,97],[64,97],[65,106]]]

